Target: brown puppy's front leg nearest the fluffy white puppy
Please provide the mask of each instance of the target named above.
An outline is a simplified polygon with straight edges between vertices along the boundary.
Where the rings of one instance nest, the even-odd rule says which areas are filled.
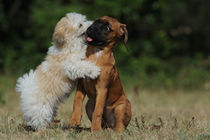
[[[82,103],[85,98],[85,92],[80,82],[82,81],[79,80],[78,85],[77,85],[77,91],[74,98],[73,112],[70,119],[70,126],[72,127],[76,127],[80,125],[81,118],[82,118]]]

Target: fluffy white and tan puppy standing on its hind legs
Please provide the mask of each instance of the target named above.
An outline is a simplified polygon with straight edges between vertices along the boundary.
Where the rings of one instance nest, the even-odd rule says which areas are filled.
[[[84,32],[92,22],[77,13],[68,13],[56,25],[53,46],[36,70],[20,77],[21,110],[28,126],[41,129],[49,125],[56,109],[75,87],[77,78],[95,79],[100,68],[85,61]]]

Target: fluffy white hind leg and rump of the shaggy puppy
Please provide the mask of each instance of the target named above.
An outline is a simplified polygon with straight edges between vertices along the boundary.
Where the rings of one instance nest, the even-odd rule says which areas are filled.
[[[33,70],[18,79],[17,91],[20,93],[21,110],[27,125],[33,129],[48,126],[53,118],[54,104],[50,104],[46,98],[39,98],[44,93],[38,86]]]

